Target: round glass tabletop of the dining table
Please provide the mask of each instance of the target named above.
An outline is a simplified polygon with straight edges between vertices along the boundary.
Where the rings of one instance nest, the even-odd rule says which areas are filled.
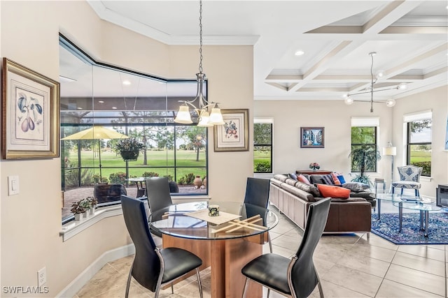
[[[226,223],[209,222],[216,218],[205,220],[193,217],[200,210],[207,212],[209,204],[219,206],[220,216],[236,218]],[[189,202],[174,204],[170,207],[151,213],[149,225],[152,230],[174,237],[189,239],[233,239],[262,234],[279,223],[279,218],[269,209],[241,202]]]

